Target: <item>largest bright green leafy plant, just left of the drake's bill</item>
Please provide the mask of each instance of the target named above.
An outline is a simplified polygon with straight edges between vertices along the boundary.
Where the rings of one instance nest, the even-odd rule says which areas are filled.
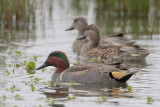
[[[26,66],[27,73],[35,74],[36,65],[33,61],[29,62]]]

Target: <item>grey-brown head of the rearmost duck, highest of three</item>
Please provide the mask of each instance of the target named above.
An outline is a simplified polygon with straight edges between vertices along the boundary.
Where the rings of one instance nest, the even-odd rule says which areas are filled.
[[[66,29],[66,31],[77,29],[79,31],[79,35],[82,35],[87,26],[87,20],[83,17],[78,17],[74,19],[72,26]]]

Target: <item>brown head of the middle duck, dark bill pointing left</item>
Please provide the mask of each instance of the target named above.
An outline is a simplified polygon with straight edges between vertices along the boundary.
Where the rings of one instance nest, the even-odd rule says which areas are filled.
[[[84,35],[79,36],[77,40],[82,40],[85,38],[89,41],[87,43],[88,45],[90,45],[92,48],[97,47],[101,39],[98,27],[94,24],[87,26]]]

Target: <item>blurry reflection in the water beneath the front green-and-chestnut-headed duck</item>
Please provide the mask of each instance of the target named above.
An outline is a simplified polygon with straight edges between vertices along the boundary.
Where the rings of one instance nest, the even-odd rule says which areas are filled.
[[[81,85],[56,85],[51,90],[54,92],[44,92],[47,98],[67,98],[69,94],[76,97],[131,97],[125,96],[127,93],[126,83],[110,84],[81,84]],[[64,100],[63,100],[64,101]]]

